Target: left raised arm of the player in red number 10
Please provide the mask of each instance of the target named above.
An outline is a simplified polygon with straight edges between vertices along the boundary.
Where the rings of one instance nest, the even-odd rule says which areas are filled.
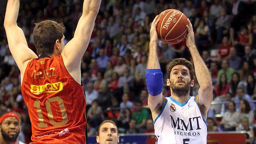
[[[26,62],[32,58],[37,58],[37,55],[28,48],[25,35],[22,29],[17,26],[19,5],[19,0],[8,0],[4,17],[4,29],[10,51],[23,76],[27,65]]]

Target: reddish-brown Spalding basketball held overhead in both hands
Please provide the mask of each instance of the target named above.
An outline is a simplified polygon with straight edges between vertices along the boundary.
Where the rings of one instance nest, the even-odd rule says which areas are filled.
[[[176,9],[168,9],[161,12],[157,19],[158,38],[167,44],[177,44],[183,41],[187,34],[187,17]]]

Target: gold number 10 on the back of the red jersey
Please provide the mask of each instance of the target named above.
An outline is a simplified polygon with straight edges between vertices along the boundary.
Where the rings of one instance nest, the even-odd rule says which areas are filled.
[[[56,122],[53,119],[52,109],[51,109],[50,103],[55,102],[55,101],[58,102],[58,105],[60,106],[60,111],[61,111],[61,116],[62,116],[62,121],[61,122]],[[47,128],[48,125],[46,123],[44,123],[44,118],[43,118],[43,115],[42,115],[42,109],[40,107],[40,100],[36,99],[33,106],[36,107],[36,109],[37,109],[38,120],[39,120],[38,127],[39,128]],[[65,106],[64,106],[64,103],[63,103],[63,99],[61,99],[58,96],[48,98],[45,102],[45,106],[46,106],[46,109],[47,109],[47,115],[48,115],[49,121],[54,127],[63,126],[65,124],[67,124],[68,117],[67,117],[67,112],[66,112],[66,109],[65,109]]]

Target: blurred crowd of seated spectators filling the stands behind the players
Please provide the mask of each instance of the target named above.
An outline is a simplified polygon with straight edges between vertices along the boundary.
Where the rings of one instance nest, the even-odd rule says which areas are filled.
[[[42,20],[65,26],[65,43],[73,37],[83,0],[30,0],[20,3],[18,26],[33,45],[33,27]],[[149,31],[153,18],[166,9],[177,9],[191,21],[198,51],[214,85],[208,112],[208,131],[251,131],[253,141],[256,100],[256,1],[255,0],[102,0],[89,47],[81,61],[86,94],[88,135],[95,135],[104,119],[113,119],[120,133],[154,132],[147,107],[145,73]],[[9,51],[0,15],[0,112],[22,115],[22,141],[29,143],[31,123],[20,93],[20,73]],[[75,50],[75,49],[74,49]],[[213,54],[215,52],[215,54]],[[186,41],[159,42],[158,57],[166,83],[166,64],[173,58],[191,60]],[[196,77],[190,95],[199,89]],[[170,88],[163,87],[170,96]],[[222,119],[215,117],[220,114]]]

